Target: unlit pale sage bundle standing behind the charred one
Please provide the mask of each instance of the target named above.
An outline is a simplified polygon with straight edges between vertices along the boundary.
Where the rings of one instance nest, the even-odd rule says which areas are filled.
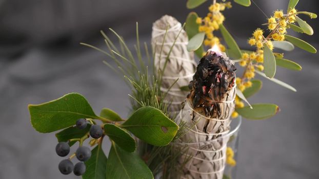
[[[156,72],[158,70],[163,72],[164,70],[161,85],[162,93],[166,93],[169,87],[178,79],[163,101],[169,105],[168,111],[173,116],[181,110],[181,103],[184,102],[188,94],[187,91],[181,90],[181,87],[188,86],[194,75],[197,63],[194,60],[194,53],[187,51],[188,36],[182,29],[181,23],[174,17],[164,15],[155,21],[152,29],[155,70]],[[166,62],[167,57],[168,60]]]

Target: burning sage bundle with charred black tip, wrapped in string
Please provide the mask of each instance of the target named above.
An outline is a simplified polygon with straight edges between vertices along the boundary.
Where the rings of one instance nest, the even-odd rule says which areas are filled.
[[[181,178],[223,178],[231,114],[234,111],[235,66],[226,55],[209,50],[198,64],[191,91],[177,117],[188,132],[173,145],[189,147],[179,159]],[[186,164],[185,164],[186,162]]]

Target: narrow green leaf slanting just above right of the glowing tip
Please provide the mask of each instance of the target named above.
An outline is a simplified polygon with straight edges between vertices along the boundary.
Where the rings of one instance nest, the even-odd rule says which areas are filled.
[[[221,30],[221,33],[222,33],[222,35],[224,37],[225,42],[228,45],[228,48],[229,48],[229,51],[230,51],[229,53],[233,55],[233,56],[231,56],[231,58],[241,59],[242,58],[242,52],[241,52],[240,48],[238,47],[236,41],[230,35],[230,33],[227,31],[227,29],[225,28],[225,26],[223,24],[220,25],[220,30]]]

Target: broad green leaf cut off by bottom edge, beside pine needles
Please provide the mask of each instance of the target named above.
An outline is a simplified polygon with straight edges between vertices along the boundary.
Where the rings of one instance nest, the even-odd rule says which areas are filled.
[[[154,178],[151,170],[134,152],[127,152],[113,143],[106,164],[105,178]]]

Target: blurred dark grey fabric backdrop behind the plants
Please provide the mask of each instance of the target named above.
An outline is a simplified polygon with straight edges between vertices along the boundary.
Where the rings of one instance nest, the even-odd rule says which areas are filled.
[[[288,0],[254,2],[267,16],[286,10],[288,4]],[[208,4],[195,11],[205,15]],[[298,10],[315,13],[318,7],[315,0],[297,5]],[[78,178],[58,172],[61,158],[55,154],[54,133],[38,133],[31,127],[27,105],[78,92],[96,111],[109,107],[126,117],[130,89],[102,63],[105,55],[79,42],[105,48],[99,30],[110,34],[107,29],[113,28],[132,47],[136,21],[141,40],[149,42],[154,20],[169,14],[183,23],[189,12],[186,1],[177,0],[0,0],[0,178]],[[250,48],[246,39],[266,21],[254,4],[248,8],[233,4],[225,16],[227,28],[243,49]],[[318,49],[318,20],[304,19],[315,34],[293,35]],[[251,103],[276,103],[282,111],[268,120],[243,121],[237,178],[319,178],[319,56],[296,49],[285,57],[303,70],[278,67],[276,78],[296,87],[297,93],[262,79],[263,89]],[[107,143],[104,149],[108,150]]]

